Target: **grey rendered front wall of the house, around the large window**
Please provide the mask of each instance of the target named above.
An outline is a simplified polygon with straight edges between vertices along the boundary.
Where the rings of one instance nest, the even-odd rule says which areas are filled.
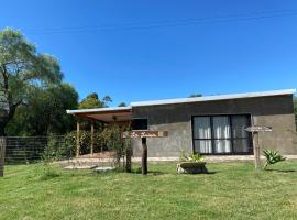
[[[220,101],[133,107],[133,118],[147,118],[150,130],[168,131],[167,138],[147,139],[148,157],[178,157],[193,152],[191,117],[204,114],[252,116],[252,124],[272,127],[260,133],[261,146],[297,154],[293,96],[274,96]],[[134,140],[134,156],[141,156],[141,140]]]

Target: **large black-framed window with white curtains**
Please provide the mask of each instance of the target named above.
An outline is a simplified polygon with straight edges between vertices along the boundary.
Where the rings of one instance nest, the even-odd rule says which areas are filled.
[[[252,153],[251,135],[244,129],[250,116],[193,117],[194,151],[201,154]]]

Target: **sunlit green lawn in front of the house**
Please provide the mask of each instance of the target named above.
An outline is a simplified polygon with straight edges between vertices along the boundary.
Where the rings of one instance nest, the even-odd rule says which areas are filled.
[[[272,167],[220,163],[208,164],[212,174],[177,175],[173,163],[150,164],[142,176],[11,165],[0,219],[297,219],[297,162]]]

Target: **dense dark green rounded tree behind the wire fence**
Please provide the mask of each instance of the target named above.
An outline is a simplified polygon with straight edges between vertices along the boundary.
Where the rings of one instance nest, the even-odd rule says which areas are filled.
[[[7,127],[8,135],[65,134],[75,129],[74,117],[67,109],[76,109],[78,94],[68,84],[46,89],[35,88],[30,94],[26,106],[18,108]]]

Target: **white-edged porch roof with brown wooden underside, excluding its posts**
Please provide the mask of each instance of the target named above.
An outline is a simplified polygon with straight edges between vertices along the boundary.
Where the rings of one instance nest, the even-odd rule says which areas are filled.
[[[67,110],[68,114],[106,123],[132,120],[132,107]]]

